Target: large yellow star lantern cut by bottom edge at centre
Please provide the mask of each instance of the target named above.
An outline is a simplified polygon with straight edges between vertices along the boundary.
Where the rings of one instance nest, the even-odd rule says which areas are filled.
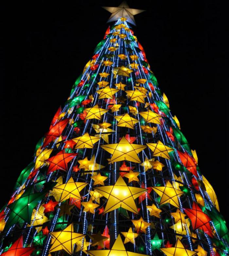
[[[87,253],[90,256],[146,256],[145,254],[126,251],[120,235],[110,250],[88,250]]]

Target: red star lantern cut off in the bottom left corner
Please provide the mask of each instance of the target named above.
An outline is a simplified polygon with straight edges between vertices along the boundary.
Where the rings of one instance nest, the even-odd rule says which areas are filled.
[[[23,236],[15,241],[8,251],[3,252],[1,256],[29,256],[33,251],[34,247],[23,247]]]

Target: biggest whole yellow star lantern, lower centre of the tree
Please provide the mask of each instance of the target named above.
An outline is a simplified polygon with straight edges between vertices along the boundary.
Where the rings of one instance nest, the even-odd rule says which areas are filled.
[[[139,187],[128,187],[123,178],[119,176],[119,178],[115,182],[115,185],[97,187],[96,190],[108,199],[106,207],[104,209],[104,213],[122,207],[126,210],[138,214],[134,199],[139,197],[147,189]]]

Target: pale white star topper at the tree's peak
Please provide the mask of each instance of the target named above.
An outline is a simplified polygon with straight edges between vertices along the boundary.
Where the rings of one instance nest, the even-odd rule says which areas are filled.
[[[112,13],[108,22],[118,20],[121,17],[122,21],[127,21],[133,25],[136,25],[133,16],[145,11],[145,10],[130,8],[126,3],[126,1],[123,1],[118,7],[103,7],[103,8]]]

